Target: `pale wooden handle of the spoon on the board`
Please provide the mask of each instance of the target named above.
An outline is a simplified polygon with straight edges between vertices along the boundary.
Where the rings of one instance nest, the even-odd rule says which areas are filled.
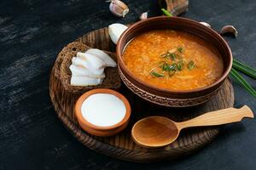
[[[228,108],[219,111],[211,111],[189,121],[178,122],[177,127],[181,130],[185,127],[223,125],[230,122],[240,122],[243,117],[254,117],[253,111],[247,105],[244,105],[240,109]]]

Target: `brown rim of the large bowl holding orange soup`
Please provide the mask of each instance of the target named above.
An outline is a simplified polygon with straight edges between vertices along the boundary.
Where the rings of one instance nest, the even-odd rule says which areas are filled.
[[[172,20],[177,20],[177,21],[186,21],[186,24],[192,23],[195,26],[200,27],[201,29],[205,29],[208,32],[211,32],[212,35],[214,35],[214,37],[218,37],[218,39],[220,39],[219,43],[222,43],[224,45],[224,48],[227,49],[228,51],[228,57],[230,59],[230,62],[227,63],[228,67],[224,68],[224,72],[222,74],[221,77],[218,78],[218,80],[216,82],[213,82],[212,84],[203,87],[203,88],[195,88],[192,90],[169,90],[166,88],[157,88],[154,85],[148,84],[147,82],[143,82],[142,80],[138,79],[137,77],[135,77],[131,71],[129,71],[122,59],[122,53],[123,53],[123,49],[121,48],[121,43],[124,41],[125,37],[127,37],[129,34],[131,34],[132,31],[134,31],[134,29],[136,29],[138,26],[142,26],[143,24],[148,24],[150,22],[155,22],[157,20],[166,20],[166,21],[170,21],[172,22]],[[196,36],[196,35],[195,35]],[[205,91],[207,89],[210,88],[214,88],[216,86],[218,86],[219,83],[224,82],[224,79],[229,75],[231,67],[232,67],[232,53],[231,53],[231,49],[228,45],[227,42],[225,42],[224,38],[221,37],[217,31],[212,30],[211,28],[208,28],[207,26],[203,26],[201,25],[199,22],[195,21],[195,20],[189,20],[186,18],[182,18],[182,17],[166,17],[166,16],[158,16],[158,17],[152,17],[149,18],[147,20],[141,20],[138,21],[137,23],[129,26],[121,35],[121,37],[119,37],[119,41],[117,43],[117,47],[116,47],[116,54],[117,54],[117,59],[118,59],[118,64],[119,64],[119,68],[120,70],[122,70],[122,72],[124,74],[126,74],[128,77],[131,77],[132,81],[135,81],[139,84],[141,84],[142,86],[144,86],[145,88],[149,88],[152,89],[156,92],[160,92],[160,93],[166,93],[166,94],[194,94],[197,92],[201,92],[201,91]],[[221,55],[222,56],[222,55]]]

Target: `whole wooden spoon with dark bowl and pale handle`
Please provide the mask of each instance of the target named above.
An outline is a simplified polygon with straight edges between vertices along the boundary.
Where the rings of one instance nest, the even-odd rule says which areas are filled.
[[[148,116],[135,123],[131,129],[131,136],[141,146],[160,147],[176,140],[183,128],[240,122],[243,117],[254,117],[253,111],[247,105],[240,109],[211,111],[185,122],[174,122],[164,116]]]

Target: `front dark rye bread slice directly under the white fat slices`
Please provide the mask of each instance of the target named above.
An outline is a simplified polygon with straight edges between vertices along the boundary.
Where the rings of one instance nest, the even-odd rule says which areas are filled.
[[[82,51],[84,52],[84,51]],[[116,61],[116,56],[113,53],[106,52],[111,58]],[[72,73],[69,70],[69,66],[72,64],[72,58],[76,56],[77,53],[71,52],[64,56],[61,63],[61,82],[65,90],[72,94],[83,94],[94,88],[110,88],[113,90],[118,90],[121,87],[121,80],[119,77],[119,71],[117,67],[106,67],[104,72],[106,77],[103,79],[102,83],[96,86],[73,86],[70,84]]]

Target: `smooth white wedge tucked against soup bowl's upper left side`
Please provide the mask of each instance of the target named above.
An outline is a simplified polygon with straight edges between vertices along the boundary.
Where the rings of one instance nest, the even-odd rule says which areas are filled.
[[[119,23],[108,26],[108,34],[113,43],[117,44],[119,37],[128,27]]]

